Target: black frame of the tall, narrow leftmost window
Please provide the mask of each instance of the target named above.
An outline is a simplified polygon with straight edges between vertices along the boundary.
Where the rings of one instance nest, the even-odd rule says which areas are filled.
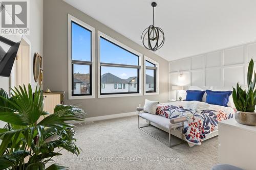
[[[87,31],[89,31],[91,33],[91,38],[90,38],[90,44],[91,44],[91,61],[80,61],[80,60],[73,60],[72,59],[72,54],[73,54],[73,23]],[[74,20],[71,20],[71,64],[72,64],[72,68],[71,68],[71,75],[72,75],[72,96],[90,96],[92,95],[92,31],[87,29],[86,27],[81,26],[79,23],[75,22]],[[89,71],[90,71],[90,83],[89,83],[89,93],[88,94],[74,94],[74,65],[89,65]]]

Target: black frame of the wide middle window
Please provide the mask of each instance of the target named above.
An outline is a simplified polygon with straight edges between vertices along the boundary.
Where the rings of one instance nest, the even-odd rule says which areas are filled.
[[[138,83],[138,86],[137,86],[137,91],[134,91],[134,92],[111,92],[111,93],[102,93],[101,92],[101,88],[100,88],[100,95],[115,95],[115,94],[139,94],[140,93],[140,89],[139,89],[139,83],[140,83],[140,56],[137,55],[137,54],[134,54],[133,52],[130,52],[129,50],[126,50],[124,47],[112,42],[111,40],[103,37],[103,36],[99,36],[99,39],[98,41],[100,41],[100,38],[122,48],[123,50],[125,50],[126,52],[129,52],[135,56],[138,57],[138,65],[126,65],[126,64],[115,64],[115,63],[102,63],[100,62],[100,77],[101,77],[101,66],[108,66],[108,67],[120,67],[120,68],[133,68],[133,69],[137,69],[137,83]],[[98,48],[100,48],[100,45],[98,46]],[[136,67],[136,68],[135,68]],[[100,83],[101,83],[101,79],[100,79]],[[118,84],[118,83],[117,83]],[[117,88],[118,88],[118,85],[117,85]],[[114,89],[117,89],[117,88],[114,88]],[[136,87],[135,87],[136,88]]]

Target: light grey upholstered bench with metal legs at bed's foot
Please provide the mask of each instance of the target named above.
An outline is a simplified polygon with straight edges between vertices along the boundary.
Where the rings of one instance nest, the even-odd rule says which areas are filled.
[[[154,137],[155,139],[161,141],[162,143],[166,144],[168,147],[174,147],[175,145],[183,143],[183,140],[182,140],[182,137],[181,137],[181,142],[171,145],[171,143],[170,143],[170,136],[171,136],[170,131],[175,130],[176,128],[178,128],[178,129],[180,129],[181,136],[182,136],[182,132],[183,132],[183,128],[184,128],[184,122],[187,121],[186,117],[178,117],[178,118],[168,119],[168,118],[156,115],[156,114],[150,114],[150,113],[144,113],[144,112],[140,113],[140,111],[143,111],[143,107],[137,107],[137,111],[139,112],[139,114],[138,114],[138,128],[140,130],[144,131],[142,128],[150,126],[151,122],[152,122],[152,123],[164,128],[168,131],[169,142],[166,143],[166,142],[154,137],[152,134],[144,131],[145,133],[147,133],[148,135],[150,135],[150,136]],[[148,125],[147,126],[140,127],[140,117],[143,118],[143,119],[148,120]]]

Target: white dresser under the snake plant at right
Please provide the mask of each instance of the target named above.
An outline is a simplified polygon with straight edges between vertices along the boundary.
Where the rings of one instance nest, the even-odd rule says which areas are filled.
[[[219,122],[219,163],[254,170],[255,156],[255,126],[239,124],[234,118]]]

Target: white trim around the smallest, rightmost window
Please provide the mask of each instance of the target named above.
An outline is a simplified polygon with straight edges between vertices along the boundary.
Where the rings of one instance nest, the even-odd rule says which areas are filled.
[[[156,77],[156,83],[154,84],[154,88],[156,89],[156,92],[146,92],[146,61],[151,62],[152,64],[155,64],[157,69],[155,69],[155,77]],[[147,56],[144,56],[144,95],[157,95],[159,94],[159,63],[152,60],[151,58],[148,58]]]

